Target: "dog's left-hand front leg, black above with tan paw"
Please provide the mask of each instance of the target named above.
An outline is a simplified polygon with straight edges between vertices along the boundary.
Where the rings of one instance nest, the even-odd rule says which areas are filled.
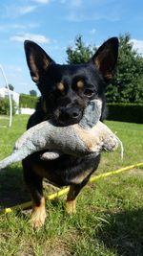
[[[45,198],[43,197],[42,177],[36,175],[30,167],[28,167],[27,160],[23,161],[24,177],[26,184],[31,193],[32,213],[31,224],[33,228],[40,228],[46,218]]]

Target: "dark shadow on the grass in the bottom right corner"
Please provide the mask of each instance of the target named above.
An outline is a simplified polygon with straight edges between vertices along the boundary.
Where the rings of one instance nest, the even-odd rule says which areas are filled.
[[[143,209],[110,214],[97,237],[122,256],[143,256]]]

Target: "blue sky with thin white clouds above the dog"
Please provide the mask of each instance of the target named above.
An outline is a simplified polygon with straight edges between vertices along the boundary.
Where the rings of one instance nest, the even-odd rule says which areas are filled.
[[[23,42],[38,43],[57,63],[66,63],[66,49],[82,35],[86,45],[101,45],[129,33],[143,55],[141,0],[1,0],[0,65],[18,93],[29,94],[31,81]],[[6,83],[0,73],[0,87]]]

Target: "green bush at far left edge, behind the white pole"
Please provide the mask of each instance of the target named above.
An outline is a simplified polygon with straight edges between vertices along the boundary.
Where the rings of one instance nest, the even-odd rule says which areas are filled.
[[[15,114],[15,104],[12,101],[12,115]],[[0,98],[0,115],[10,114],[10,101],[8,98]]]

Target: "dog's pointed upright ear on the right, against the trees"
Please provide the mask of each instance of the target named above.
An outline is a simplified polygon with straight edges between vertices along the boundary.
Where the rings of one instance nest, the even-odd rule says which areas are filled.
[[[112,37],[104,42],[92,57],[96,68],[101,72],[106,81],[112,79],[113,69],[118,57],[118,39]]]

